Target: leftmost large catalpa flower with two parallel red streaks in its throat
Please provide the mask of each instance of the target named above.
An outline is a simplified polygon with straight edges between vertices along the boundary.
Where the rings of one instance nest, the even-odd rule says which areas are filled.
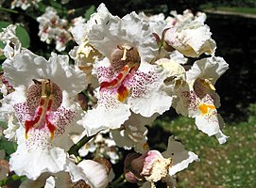
[[[69,133],[83,130],[76,123],[82,111],[74,99],[86,85],[84,74],[69,67],[67,55],[53,54],[47,61],[28,50],[7,59],[3,69],[15,89],[9,103],[21,125],[10,169],[31,180],[63,170],[65,151],[73,145]]]

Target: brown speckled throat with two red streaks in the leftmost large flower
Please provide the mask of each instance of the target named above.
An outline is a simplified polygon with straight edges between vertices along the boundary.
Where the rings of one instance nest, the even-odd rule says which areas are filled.
[[[26,139],[27,133],[32,128],[42,129],[46,127],[53,139],[57,127],[51,122],[52,112],[56,111],[62,102],[60,87],[45,79],[33,79],[34,84],[27,89],[27,106],[30,118],[25,121]]]

